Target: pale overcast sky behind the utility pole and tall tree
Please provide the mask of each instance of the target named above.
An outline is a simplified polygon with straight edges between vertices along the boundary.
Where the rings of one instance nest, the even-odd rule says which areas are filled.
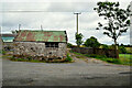
[[[98,22],[105,23],[102,18],[94,11],[98,1],[105,0],[1,0],[0,1],[0,26],[1,33],[11,33],[18,30],[43,30],[66,31],[68,42],[76,44],[76,15],[79,14],[79,33],[82,41],[95,36],[102,44],[113,44],[113,41],[103,35],[103,30],[96,30]],[[109,1],[109,0],[108,0]],[[110,0],[119,1],[119,0]],[[120,0],[120,8],[127,9],[131,0]],[[123,33],[118,43],[130,44],[130,29]]]

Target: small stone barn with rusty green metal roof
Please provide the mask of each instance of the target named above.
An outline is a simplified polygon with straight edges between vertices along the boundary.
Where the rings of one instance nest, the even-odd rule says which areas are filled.
[[[50,61],[67,56],[66,31],[20,30],[13,42],[14,57]]]

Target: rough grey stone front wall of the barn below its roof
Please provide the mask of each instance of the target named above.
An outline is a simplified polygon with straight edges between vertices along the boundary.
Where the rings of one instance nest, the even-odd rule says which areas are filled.
[[[58,47],[45,47],[45,43],[14,42],[14,56],[31,56],[34,59],[66,58],[66,43],[58,43]]]

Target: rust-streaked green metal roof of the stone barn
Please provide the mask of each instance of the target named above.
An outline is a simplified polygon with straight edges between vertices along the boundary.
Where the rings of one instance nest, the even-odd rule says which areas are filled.
[[[67,42],[66,31],[20,30],[15,42]]]

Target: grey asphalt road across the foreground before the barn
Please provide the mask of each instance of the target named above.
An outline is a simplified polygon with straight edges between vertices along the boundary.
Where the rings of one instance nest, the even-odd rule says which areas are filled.
[[[3,86],[129,86],[130,66],[95,58],[75,63],[30,63],[2,58]],[[89,61],[90,59],[90,61]],[[92,59],[92,61],[91,61]]]

